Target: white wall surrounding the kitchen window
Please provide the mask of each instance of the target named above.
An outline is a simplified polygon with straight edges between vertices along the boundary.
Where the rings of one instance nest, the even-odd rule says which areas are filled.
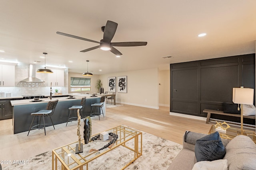
[[[93,76],[82,76],[82,73],[74,73],[70,72],[68,74],[68,93],[70,92],[70,77],[82,77],[82,78],[91,78],[91,91],[86,92],[79,92],[79,93],[98,93],[98,89],[95,88],[96,81],[100,78],[99,75],[94,74]],[[78,93],[78,92],[72,92],[72,93]]]

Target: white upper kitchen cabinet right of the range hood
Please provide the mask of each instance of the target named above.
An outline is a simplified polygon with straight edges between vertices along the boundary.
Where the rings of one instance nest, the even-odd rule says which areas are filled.
[[[53,73],[48,74],[48,86],[64,86],[64,70],[51,69]]]

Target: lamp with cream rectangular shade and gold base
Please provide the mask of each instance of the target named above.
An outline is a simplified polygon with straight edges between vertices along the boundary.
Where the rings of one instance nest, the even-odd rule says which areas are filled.
[[[241,104],[241,134],[244,134],[243,131],[243,104],[253,104],[253,95],[254,95],[254,89],[252,88],[244,88],[241,86],[241,88],[233,88],[233,102],[235,104],[238,104],[238,110],[239,104]]]

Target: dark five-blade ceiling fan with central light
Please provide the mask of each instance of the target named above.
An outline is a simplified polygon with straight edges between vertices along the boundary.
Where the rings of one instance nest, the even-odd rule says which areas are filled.
[[[114,53],[115,55],[122,55],[122,53],[120,53],[120,51],[118,51],[115,47],[132,47],[132,46],[143,46],[143,45],[147,45],[147,42],[116,42],[116,43],[111,43],[111,40],[113,39],[115,33],[116,33],[116,28],[117,28],[117,23],[113,22],[113,21],[107,21],[106,26],[101,27],[102,32],[104,32],[103,34],[103,39],[100,40],[100,42],[98,41],[94,41],[91,39],[86,39],[86,38],[82,38],[82,37],[78,37],[75,35],[70,35],[70,34],[66,34],[66,33],[61,33],[61,32],[56,32],[59,35],[64,35],[67,37],[72,37],[72,38],[76,38],[76,39],[81,39],[84,41],[90,41],[93,43],[98,43],[100,45],[97,45],[95,47],[91,47],[85,50],[82,50],[80,52],[87,52],[87,51],[91,51],[94,49],[102,49],[105,51],[111,51],[112,53]]]

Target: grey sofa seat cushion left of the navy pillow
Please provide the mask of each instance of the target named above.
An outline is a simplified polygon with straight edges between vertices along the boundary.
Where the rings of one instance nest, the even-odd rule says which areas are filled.
[[[195,152],[182,149],[167,170],[191,170],[194,166]]]

